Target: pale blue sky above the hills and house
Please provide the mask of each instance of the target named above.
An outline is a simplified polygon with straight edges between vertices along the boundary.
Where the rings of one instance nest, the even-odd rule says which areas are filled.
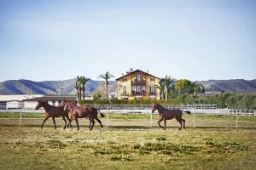
[[[255,0],[0,0],[0,82],[256,78]]]

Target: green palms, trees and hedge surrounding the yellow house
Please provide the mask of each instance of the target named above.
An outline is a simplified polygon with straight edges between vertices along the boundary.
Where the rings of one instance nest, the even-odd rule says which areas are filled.
[[[108,72],[101,74],[99,78],[105,82],[100,82],[100,86],[91,94],[94,100],[84,100],[85,84],[90,81],[87,77],[76,77],[75,88],[77,90],[78,102],[84,104],[217,104],[218,108],[229,109],[256,109],[256,94],[241,93],[220,93],[205,94],[205,88],[201,83],[190,82],[187,79],[175,80],[166,76],[160,80],[159,85],[155,88],[160,89],[160,99],[117,99],[113,96],[108,99],[108,91],[117,92],[118,85],[114,82],[109,86],[108,80],[113,75]],[[83,97],[83,98],[82,98]]]

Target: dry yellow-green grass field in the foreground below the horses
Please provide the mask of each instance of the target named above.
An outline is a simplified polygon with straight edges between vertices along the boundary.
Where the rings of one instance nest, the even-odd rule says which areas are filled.
[[[104,120],[102,120],[104,121]],[[82,122],[82,121],[80,121]],[[255,169],[255,129],[0,123],[0,169]]]

